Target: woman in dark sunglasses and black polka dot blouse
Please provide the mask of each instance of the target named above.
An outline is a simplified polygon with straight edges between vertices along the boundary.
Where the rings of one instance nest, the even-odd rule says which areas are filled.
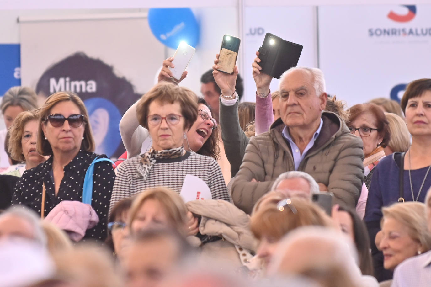
[[[50,158],[24,172],[16,183],[12,205],[28,206],[43,217],[63,200],[82,202],[87,168],[94,159],[106,158],[106,155],[93,152],[95,145],[87,109],[75,93],[52,94],[37,115],[37,153]],[[110,162],[94,164],[91,207],[99,222],[86,230],[84,240],[106,238],[106,217],[114,179]]]

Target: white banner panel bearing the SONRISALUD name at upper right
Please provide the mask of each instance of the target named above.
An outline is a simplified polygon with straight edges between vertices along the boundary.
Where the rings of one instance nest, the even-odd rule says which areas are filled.
[[[401,97],[431,77],[431,5],[319,6],[319,55],[327,91],[348,106]]]

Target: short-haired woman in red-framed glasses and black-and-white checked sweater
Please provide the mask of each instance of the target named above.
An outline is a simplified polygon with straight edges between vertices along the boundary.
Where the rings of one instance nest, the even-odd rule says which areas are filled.
[[[168,187],[180,193],[186,175],[204,181],[212,199],[231,200],[215,159],[186,148],[190,144],[187,132],[197,121],[197,110],[196,94],[174,84],[156,84],[142,96],[137,103],[137,119],[148,130],[152,146],[117,168],[110,208],[119,200],[152,187]]]

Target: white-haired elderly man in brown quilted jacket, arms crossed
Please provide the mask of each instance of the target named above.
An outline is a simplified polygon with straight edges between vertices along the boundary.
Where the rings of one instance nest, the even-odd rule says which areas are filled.
[[[253,73],[260,70],[257,62]],[[269,93],[271,78],[261,75],[258,93]],[[250,213],[281,173],[295,170],[311,175],[320,190],[334,193],[335,203],[356,206],[363,181],[362,141],[340,117],[324,112],[327,97],[320,69],[294,67],[281,75],[281,117],[268,132],[250,139],[231,183],[237,207]]]

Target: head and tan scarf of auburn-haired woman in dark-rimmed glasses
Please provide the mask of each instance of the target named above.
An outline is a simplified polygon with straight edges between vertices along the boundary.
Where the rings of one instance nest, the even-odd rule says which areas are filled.
[[[385,157],[384,148],[390,139],[389,122],[376,104],[364,103],[349,109],[347,126],[364,144],[364,182],[369,189],[374,168]]]

